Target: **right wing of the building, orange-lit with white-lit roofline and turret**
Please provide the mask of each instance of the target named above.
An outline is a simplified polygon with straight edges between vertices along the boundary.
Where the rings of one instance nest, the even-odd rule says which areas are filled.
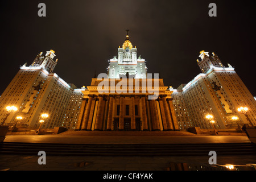
[[[182,84],[173,91],[172,102],[180,130],[188,127],[212,129],[205,118],[207,114],[214,117],[216,129],[236,128],[244,123],[256,125],[256,101],[243,84],[234,68],[224,67],[217,55],[200,52],[201,61],[197,60],[201,71],[191,82]],[[247,117],[238,112],[238,108],[249,108]],[[237,121],[232,118],[238,117]]]

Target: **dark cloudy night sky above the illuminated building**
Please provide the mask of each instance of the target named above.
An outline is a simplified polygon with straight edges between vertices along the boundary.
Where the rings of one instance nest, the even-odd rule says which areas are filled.
[[[46,17],[38,4],[46,4]],[[217,17],[209,17],[209,3]],[[177,88],[200,73],[200,51],[216,53],[236,68],[256,96],[256,1],[1,1],[0,94],[24,63],[55,50],[55,73],[78,88],[90,85],[94,72],[106,73],[118,46],[130,41],[147,60],[148,73],[158,73]]]

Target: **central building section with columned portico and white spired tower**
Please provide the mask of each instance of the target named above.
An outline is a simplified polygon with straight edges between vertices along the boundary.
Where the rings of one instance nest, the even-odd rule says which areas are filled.
[[[122,48],[118,48],[118,59],[114,57],[109,62],[107,77],[93,78],[90,86],[82,90],[84,98],[76,130],[179,130],[172,91],[164,86],[163,79],[147,75],[146,61],[137,58],[137,48],[133,48],[128,34]],[[120,86],[124,81],[129,86]],[[104,86],[104,93],[99,92],[99,85]],[[156,89],[156,98],[151,99],[151,91]]]

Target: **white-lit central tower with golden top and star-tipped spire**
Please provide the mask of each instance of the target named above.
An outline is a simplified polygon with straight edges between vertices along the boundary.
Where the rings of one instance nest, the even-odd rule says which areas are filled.
[[[130,78],[147,78],[147,67],[141,56],[137,58],[137,48],[130,42],[129,30],[126,30],[126,39],[123,46],[118,48],[118,58],[109,60],[108,77],[121,78],[127,73]]]

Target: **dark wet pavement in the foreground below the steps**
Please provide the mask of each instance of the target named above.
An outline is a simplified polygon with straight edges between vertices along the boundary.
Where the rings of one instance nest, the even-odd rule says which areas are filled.
[[[11,171],[166,171],[170,163],[208,164],[205,157],[86,157],[46,156],[46,165],[38,164],[39,156],[0,155],[0,170]],[[255,164],[255,156],[217,156],[217,164]]]

